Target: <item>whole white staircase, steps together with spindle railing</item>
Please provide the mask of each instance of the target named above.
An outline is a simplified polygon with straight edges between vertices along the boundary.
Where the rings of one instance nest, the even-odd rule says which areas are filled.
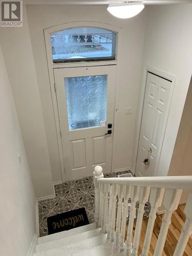
[[[163,202],[165,213],[154,252],[155,256],[160,256],[182,189],[187,189],[190,193],[184,210],[186,221],[174,252],[174,256],[183,255],[192,229],[192,176],[103,178],[102,167],[96,166],[93,178],[95,223],[38,238],[34,256],[138,255],[144,204],[147,201],[151,203],[151,212],[140,256],[147,256],[149,253],[156,212]],[[131,213],[126,230],[127,204],[130,198]],[[137,201],[139,209],[133,239]]]

